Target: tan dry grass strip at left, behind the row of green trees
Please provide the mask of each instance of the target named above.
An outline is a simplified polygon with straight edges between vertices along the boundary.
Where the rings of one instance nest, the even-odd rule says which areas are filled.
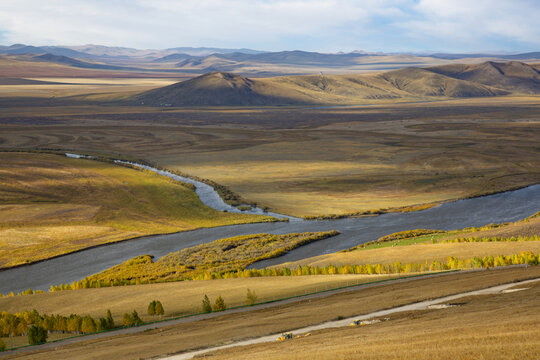
[[[43,314],[103,316],[107,309],[115,320],[121,321],[124,312],[137,310],[144,320],[148,303],[159,300],[165,316],[180,316],[201,311],[205,294],[215,300],[221,295],[228,307],[244,305],[247,289],[255,291],[259,300],[270,300],[335,288],[353,282],[369,282],[391,278],[388,275],[321,275],[298,277],[238,278],[224,280],[179,281],[112,288],[55,291],[0,298],[0,309],[19,312],[36,309]]]

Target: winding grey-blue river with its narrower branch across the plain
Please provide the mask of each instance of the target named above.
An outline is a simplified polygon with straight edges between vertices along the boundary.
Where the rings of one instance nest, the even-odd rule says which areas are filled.
[[[138,164],[132,165],[143,167]],[[160,172],[161,175],[165,176],[178,176],[150,167],[145,168]],[[188,178],[177,180],[193,183],[197,187],[197,194],[203,203],[224,210],[218,207],[223,206],[220,204],[223,201],[219,196],[219,200],[216,199],[217,194],[211,187],[211,191],[206,191],[208,189],[199,191],[200,187],[208,185]],[[302,221],[291,218],[289,222],[231,225],[148,236],[0,271],[0,292],[4,294],[10,291],[20,292],[28,288],[47,290],[51,285],[80,280],[138,255],[151,254],[159,258],[172,251],[231,236],[261,232],[285,234],[332,229],[341,232],[336,237],[310,243],[284,256],[255,264],[255,267],[264,267],[347,249],[397,231],[416,228],[451,230],[468,226],[482,226],[493,222],[516,221],[532,215],[538,210],[540,210],[540,185],[534,185],[515,191],[449,202],[418,212],[321,221]],[[254,213],[262,212],[260,209],[253,211]],[[269,215],[281,216],[270,213]]]

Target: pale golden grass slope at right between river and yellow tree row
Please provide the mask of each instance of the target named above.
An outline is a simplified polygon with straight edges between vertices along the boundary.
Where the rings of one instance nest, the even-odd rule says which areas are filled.
[[[277,267],[296,268],[298,266],[328,266],[349,264],[392,264],[424,263],[425,261],[443,261],[448,257],[469,259],[473,257],[513,255],[523,251],[540,252],[540,241],[494,241],[494,242],[446,242],[458,238],[493,237],[509,239],[511,237],[533,237],[540,234],[540,217],[533,216],[525,220],[509,223],[489,229],[471,229],[421,235],[402,240],[375,243],[365,248],[358,247],[353,251],[342,251],[315,256],[295,262],[281,264]],[[435,242],[435,243],[433,243]]]

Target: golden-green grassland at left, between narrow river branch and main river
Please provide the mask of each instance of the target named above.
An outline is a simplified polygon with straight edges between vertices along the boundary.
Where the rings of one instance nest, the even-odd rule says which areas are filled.
[[[61,155],[0,152],[0,266],[137,236],[267,220],[203,205],[190,186]]]

